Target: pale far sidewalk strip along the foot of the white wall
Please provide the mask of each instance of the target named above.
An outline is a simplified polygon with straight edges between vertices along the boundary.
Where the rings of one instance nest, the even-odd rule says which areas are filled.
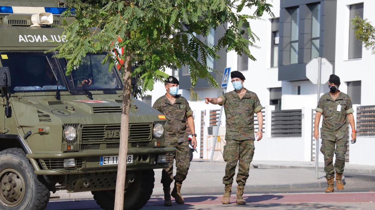
[[[315,168],[315,162],[313,162],[313,161],[303,162],[303,161],[254,160],[253,162],[251,162],[251,165],[254,168],[262,168],[262,169],[265,169],[265,168],[280,168],[280,169],[286,169],[286,168],[311,169],[311,168]],[[323,171],[323,168],[324,168],[324,162],[319,162],[320,171]],[[375,175],[375,166],[345,163],[344,175],[345,175],[345,173]]]

